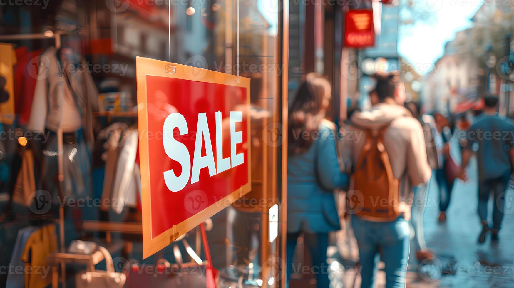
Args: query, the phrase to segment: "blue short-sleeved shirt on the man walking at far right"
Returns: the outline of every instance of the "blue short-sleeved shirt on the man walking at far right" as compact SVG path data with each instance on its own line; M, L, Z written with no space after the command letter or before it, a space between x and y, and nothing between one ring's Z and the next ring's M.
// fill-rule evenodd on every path
M514 146L514 125L510 118L498 114L475 119L467 132L467 148L478 143L479 178L484 181L501 177L512 169L509 150Z

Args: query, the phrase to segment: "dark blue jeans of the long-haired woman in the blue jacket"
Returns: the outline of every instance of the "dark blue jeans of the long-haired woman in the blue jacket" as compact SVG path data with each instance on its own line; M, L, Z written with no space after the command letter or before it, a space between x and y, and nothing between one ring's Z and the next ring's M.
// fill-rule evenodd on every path
M296 244L301 232L287 233L286 242L286 288L289 287L289 279L291 272L293 272L293 257L295 256ZM316 276L316 287L328 288L330 281L328 279L328 264L326 263L326 250L328 248L328 233L304 233L304 243L307 245L312 266L310 271ZM300 263L300 270L295 272L302 273L302 265Z

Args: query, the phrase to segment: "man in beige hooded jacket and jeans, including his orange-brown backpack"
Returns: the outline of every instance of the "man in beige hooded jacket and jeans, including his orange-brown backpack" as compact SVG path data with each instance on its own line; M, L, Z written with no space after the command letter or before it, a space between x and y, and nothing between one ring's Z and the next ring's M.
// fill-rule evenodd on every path
M353 142L353 175L348 211L359 247L361 287L374 286L378 257L385 263L386 287L405 287L410 247L410 187L427 183L423 129L404 106L405 86L398 73L374 76L372 109L356 112L351 122L363 134ZM421 134L420 134L421 133Z

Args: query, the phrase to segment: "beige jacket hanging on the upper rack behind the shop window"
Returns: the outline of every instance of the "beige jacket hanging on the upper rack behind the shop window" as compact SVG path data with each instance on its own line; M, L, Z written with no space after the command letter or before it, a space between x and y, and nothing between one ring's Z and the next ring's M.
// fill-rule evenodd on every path
M84 128L93 142L93 115L98 111L98 90L80 56L48 48L42 55L28 129L43 132L75 132Z

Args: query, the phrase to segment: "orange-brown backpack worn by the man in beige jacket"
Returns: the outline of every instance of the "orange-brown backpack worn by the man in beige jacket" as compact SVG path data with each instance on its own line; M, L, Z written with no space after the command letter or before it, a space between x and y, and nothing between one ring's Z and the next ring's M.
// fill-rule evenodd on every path
M400 215L399 185L394 178L382 137L388 127L366 131L367 137L353 174L350 211L373 222L393 221Z

